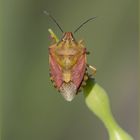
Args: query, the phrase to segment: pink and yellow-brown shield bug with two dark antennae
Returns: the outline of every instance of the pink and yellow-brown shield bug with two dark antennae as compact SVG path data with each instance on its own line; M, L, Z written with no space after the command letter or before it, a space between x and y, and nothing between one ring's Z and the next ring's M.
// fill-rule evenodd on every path
M44 11L59 27L63 36L60 41L51 33L54 43L49 47L50 79L54 86L67 100L71 101L74 96L86 85L89 78L87 68L96 69L87 64L86 55L88 54L83 41L77 41L72 32L63 32L62 28L48 12ZM75 31L76 33L90 18L83 22Z

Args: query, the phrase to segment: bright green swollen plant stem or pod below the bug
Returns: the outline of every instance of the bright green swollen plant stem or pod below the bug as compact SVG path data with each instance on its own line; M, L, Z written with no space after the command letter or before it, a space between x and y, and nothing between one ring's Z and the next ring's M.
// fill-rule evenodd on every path
M109 98L106 91L98 85L94 79L87 81L84 88L85 102L88 108L104 123L107 128L110 140L133 140L114 119Z

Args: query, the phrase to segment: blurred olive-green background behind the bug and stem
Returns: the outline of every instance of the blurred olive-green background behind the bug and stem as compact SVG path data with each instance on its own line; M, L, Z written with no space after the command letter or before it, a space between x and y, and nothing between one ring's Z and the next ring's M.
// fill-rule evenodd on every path
M49 80L48 28L65 31L98 18L75 34L91 52L96 81L110 97L119 124L138 138L138 1L1 0L2 140L108 140L83 94L68 103Z

